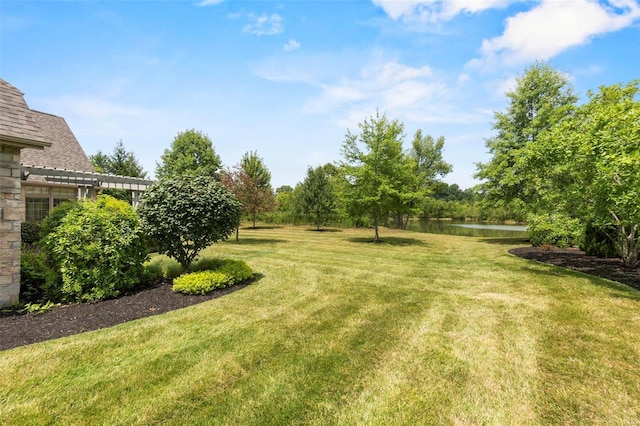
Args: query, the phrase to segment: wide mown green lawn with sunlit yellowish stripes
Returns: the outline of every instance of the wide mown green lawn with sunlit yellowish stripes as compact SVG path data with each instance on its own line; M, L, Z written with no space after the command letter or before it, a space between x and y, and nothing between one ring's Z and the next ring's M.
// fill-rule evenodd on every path
M381 236L243 229L208 253L251 286L1 352L0 423L640 422L640 292L505 240Z

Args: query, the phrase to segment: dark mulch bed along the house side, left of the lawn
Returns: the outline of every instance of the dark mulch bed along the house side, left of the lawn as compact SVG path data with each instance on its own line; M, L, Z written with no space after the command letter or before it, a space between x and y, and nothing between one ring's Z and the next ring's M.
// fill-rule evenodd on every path
M171 290L171 283L162 282L117 299L72 303L54 307L44 313L2 316L0 317L0 351L163 314L216 299L247 285L249 283L236 284L204 296L189 296L174 293Z

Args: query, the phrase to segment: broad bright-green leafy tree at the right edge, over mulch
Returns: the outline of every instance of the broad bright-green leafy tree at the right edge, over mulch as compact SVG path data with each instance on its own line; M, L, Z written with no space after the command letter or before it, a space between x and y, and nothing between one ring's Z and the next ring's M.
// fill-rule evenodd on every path
M538 211L617 229L618 253L640 250L640 80L601 87L575 114L530 144L517 165L539 190Z

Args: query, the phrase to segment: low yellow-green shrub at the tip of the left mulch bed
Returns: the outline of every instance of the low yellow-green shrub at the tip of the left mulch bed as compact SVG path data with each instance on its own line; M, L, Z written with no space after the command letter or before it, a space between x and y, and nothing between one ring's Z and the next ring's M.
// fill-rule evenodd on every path
M173 280L173 291L185 294L207 294L229 287L253 277L253 271L243 261L230 259L201 259L200 267L214 266L213 270L200 270Z

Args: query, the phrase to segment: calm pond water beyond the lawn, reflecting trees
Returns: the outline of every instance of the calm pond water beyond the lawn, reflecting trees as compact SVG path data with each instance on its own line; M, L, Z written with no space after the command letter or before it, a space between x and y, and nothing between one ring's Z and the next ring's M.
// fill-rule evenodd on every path
M526 238L525 225L508 225L450 220L411 220L409 231L430 234L462 235L465 237Z

